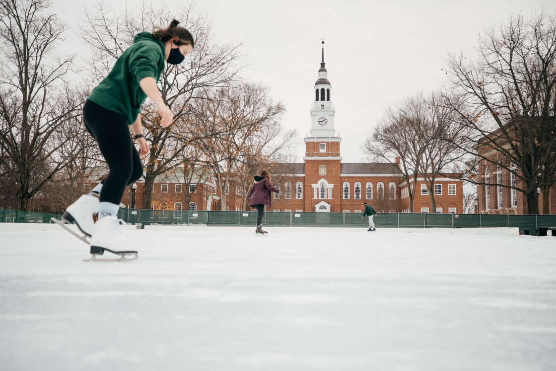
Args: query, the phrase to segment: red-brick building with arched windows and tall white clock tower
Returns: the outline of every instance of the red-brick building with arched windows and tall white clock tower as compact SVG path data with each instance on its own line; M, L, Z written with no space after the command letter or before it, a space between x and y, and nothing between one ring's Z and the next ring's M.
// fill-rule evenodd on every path
M324 43L324 42L323 42ZM405 182L396 163L342 163L341 137L335 135L335 107L332 85L327 79L324 46L313 87L311 135L305 138L304 162L284 164L284 174L274 185L283 195L273 194L272 211L360 212L368 202L380 212L433 212L429 195L415 196L414 210L409 210ZM418 180L420 187L422 179ZM420 188L418 188L420 191ZM436 212L463 212L463 181L440 177L435 184ZM231 199L228 197L231 202ZM237 197L236 197L237 198ZM241 201L239 202L241 205Z

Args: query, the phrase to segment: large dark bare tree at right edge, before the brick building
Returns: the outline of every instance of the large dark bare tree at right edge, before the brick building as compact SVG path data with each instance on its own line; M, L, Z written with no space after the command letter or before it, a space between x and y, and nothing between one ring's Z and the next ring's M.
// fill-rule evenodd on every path
M527 197L529 214L539 213L540 187L548 213L556 182L556 17L547 11L511 16L485 31L476 52L474 60L465 52L446 60L446 107L467 132L459 147L476 156L471 163L514 174L520 182L513 188ZM485 184L481 177L469 180Z

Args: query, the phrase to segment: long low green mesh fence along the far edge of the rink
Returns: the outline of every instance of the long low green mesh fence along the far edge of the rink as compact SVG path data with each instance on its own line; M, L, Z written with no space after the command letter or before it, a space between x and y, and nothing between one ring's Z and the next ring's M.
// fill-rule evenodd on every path
M369 220L360 212L265 212L264 225L366 227ZM0 209L0 223L51 223L61 215L44 212ZM196 211L120 209L118 217L128 224L255 226L257 211ZM376 227L381 228L483 228L518 227L520 233L546 235L556 230L556 215L489 215L489 214L377 214ZM556 233L555 233L556 234Z

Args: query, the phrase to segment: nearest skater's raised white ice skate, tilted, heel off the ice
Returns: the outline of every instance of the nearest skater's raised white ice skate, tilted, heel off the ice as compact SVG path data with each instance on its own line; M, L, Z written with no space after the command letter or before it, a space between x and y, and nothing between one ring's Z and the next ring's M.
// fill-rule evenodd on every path
M93 221L93 214L98 211L98 196L92 195L82 195L73 204L69 205L66 212L62 215L62 220L57 220L52 218L52 221L56 224L61 225L69 233L76 236L78 239L82 240L86 244L89 243L87 237L91 237L93 231L95 231L95 221ZM83 232L83 236L75 233L69 229L64 222L72 223L75 222L77 227Z

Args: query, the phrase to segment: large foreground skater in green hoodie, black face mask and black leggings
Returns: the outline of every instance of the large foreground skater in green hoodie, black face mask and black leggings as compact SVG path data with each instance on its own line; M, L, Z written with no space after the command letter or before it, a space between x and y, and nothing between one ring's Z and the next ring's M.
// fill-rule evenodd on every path
M167 28L138 33L108 76L87 97L83 121L95 138L109 173L88 195L70 205L62 217L76 222L85 234L83 240L91 237L91 253L96 249L102 254L104 249L121 242L117 233L120 201L126 187L143 175L141 157L150 152L141 126L141 106L150 98L160 115L160 126L171 125L173 114L158 92L157 82L165 62L179 65L194 45L191 33L176 19ZM130 126L140 152L133 144ZM96 211L95 224L92 215Z

